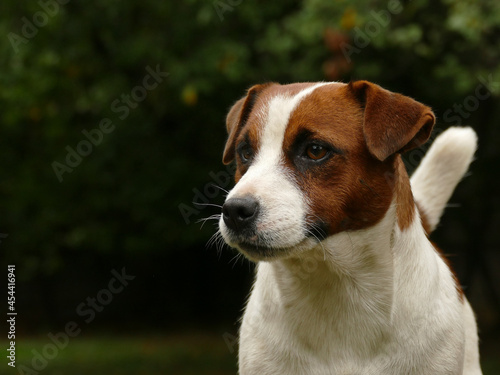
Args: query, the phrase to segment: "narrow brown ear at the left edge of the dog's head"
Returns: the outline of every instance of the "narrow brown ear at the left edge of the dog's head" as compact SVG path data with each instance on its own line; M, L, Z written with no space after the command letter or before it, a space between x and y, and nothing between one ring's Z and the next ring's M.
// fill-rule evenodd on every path
M224 164L229 164L233 161L235 156L236 138L238 138L241 129L247 122L259 93L269 85L271 84L266 83L252 86L248 89L247 95L238 100L229 110L226 117L226 128L229 136L226 142L226 147L224 148L224 154L222 156L222 162Z

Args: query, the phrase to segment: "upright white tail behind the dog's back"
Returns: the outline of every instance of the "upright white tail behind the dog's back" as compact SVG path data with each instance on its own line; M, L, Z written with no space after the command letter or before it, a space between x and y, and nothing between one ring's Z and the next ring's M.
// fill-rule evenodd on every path
M472 128L451 127L436 138L411 177L424 228L438 225L453 190L467 172L477 147Z

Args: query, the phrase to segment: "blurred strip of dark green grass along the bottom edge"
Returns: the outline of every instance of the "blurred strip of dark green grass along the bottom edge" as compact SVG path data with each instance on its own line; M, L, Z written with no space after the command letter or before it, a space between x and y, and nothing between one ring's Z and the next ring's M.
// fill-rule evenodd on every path
M183 334L156 336L76 337L47 365L36 372L21 372L21 365L33 369L33 350L43 353L47 337L18 339L16 365L0 365L0 374L26 375L234 375L236 353L231 353L222 335ZM48 352L49 356L52 352ZM6 360L6 358L4 358ZM484 375L500 374L500 358L485 358ZM36 370L36 369L35 369Z

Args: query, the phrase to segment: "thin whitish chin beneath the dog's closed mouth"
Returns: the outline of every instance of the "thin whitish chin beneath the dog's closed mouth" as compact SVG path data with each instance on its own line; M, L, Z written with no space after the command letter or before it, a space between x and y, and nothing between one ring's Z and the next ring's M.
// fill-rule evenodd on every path
M302 241L291 246L267 246L257 245L251 242L239 242L230 244L230 246L237 249L252 262L271 262L273 260L285 259L297 255L302 251L312 248L314 243L312 243L309 238L304 238Z

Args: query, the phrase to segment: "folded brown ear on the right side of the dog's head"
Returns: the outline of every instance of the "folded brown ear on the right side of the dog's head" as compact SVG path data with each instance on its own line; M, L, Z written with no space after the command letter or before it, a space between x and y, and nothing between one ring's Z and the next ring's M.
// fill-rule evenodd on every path
M364 105L365 141L377 159L383 161L429 139L436 120L429 107L367 81L351 82L349 87Z

